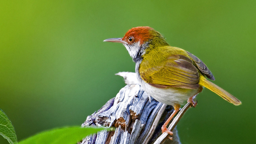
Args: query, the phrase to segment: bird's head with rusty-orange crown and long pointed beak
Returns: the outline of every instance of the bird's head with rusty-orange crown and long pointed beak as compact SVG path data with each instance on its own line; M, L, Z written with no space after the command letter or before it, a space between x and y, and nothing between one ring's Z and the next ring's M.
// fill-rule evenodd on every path
M133 27L123 38L105 39L104 42L123 43L135 62L140 60L147 50L168 45L165 38L151 27Z

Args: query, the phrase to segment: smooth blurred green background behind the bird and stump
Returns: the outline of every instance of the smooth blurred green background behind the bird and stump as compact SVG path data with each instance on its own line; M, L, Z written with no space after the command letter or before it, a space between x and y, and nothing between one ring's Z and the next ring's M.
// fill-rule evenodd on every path
M134 72L127 50L104 39L150 26L203 60L215 83L242 101L204 90L177 128L182 143L255 143L255 0L1 1L0 108L18 140L81 125ZM0 137L0 143L7 143Z

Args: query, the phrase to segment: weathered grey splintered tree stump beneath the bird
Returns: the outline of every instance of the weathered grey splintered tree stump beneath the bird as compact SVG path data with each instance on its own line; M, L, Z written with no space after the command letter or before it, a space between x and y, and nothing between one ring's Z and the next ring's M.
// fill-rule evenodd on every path
M167 134L161 132L161 126L173 112L173 107L148 96L139 86L135 73L119 72L117 75L123 76L127 85L82 124L116 127L116 130L98 132L86 137L80 144L180 143L174 128L179 119L173 123L173 140L167 139ZM162 138L159 139L160 135Z

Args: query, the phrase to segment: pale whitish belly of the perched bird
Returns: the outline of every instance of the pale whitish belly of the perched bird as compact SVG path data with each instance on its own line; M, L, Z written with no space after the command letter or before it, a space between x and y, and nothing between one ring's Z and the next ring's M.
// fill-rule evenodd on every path
M148 95L152 96L158 102L164 103L166 105L173 106L174 104L182 104L184 101L187 101L188 98L198 93L197 89L191 90L172 87L157 88L144 82L142 79L139 79L139 83Z

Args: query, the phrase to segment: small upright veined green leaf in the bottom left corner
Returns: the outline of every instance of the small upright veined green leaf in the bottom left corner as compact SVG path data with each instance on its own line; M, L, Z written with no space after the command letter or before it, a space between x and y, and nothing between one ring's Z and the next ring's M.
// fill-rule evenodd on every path
M8 119L3 110L0 109L0 134L7 139L10 144L17 143L17 137L12 122Z

